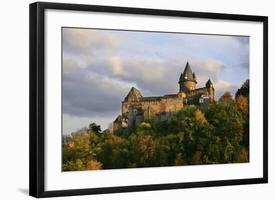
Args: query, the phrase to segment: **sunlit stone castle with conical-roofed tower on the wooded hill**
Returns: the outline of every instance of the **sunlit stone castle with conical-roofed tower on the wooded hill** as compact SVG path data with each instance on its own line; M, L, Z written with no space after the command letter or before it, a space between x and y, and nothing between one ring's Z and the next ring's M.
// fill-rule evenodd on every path
M132 87L121 102L121 115L113 121L113 131L135 127L145 119L163 121L176 114L184 105L195 105L203 110L214 101L214 88L210 79L205 87L196 89L196 76L187 61L179 77L179 92L158 97L143 97Z

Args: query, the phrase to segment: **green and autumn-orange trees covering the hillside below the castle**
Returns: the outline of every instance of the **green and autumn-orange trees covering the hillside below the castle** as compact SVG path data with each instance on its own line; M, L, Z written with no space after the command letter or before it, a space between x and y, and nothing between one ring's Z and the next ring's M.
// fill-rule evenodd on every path
M249 162L249 80L204 112L184 106L167 121L112 134L92 123L63 136L63 171Z

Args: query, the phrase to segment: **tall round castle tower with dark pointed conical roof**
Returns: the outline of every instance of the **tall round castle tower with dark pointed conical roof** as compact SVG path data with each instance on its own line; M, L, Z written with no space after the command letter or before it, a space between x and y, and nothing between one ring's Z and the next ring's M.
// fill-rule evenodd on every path
M183 73L179 77L179 92L187 93L190 90L194 90L196 86L196 77L195 73L192 73L190 65L187 61Z

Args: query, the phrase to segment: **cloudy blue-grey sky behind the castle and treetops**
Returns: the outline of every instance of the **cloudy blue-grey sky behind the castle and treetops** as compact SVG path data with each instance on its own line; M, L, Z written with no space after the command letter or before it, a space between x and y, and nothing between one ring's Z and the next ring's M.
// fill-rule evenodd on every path
M62 28L62 134L121 114L131 87L142 96L179 91L186 62L196 87L210 79L215 100L249 78L249 37Z

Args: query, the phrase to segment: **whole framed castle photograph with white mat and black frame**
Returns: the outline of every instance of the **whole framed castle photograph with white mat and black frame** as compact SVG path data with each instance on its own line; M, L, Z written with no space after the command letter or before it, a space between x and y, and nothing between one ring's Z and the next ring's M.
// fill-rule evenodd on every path
M267 183L267 16L29 5L29 195Z

